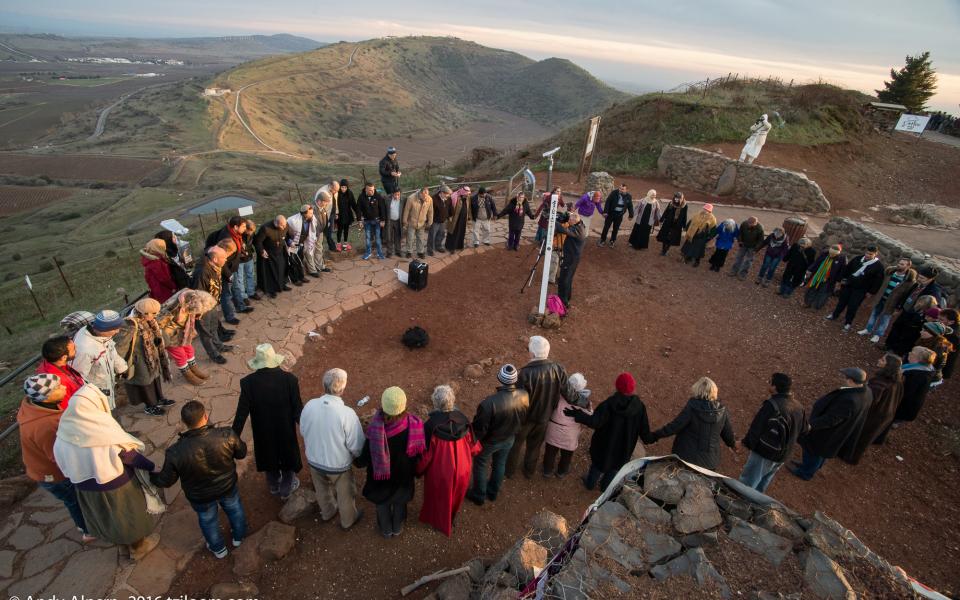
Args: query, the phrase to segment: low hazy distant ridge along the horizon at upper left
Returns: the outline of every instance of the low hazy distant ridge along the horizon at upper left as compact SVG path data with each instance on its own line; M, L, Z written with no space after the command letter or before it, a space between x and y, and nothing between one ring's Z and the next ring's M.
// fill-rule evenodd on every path
M64 37L0 33L0 60L60 62L84 58L131 61L181 60L237 64L277 54L306 52L326 44L288 34L196 38Z

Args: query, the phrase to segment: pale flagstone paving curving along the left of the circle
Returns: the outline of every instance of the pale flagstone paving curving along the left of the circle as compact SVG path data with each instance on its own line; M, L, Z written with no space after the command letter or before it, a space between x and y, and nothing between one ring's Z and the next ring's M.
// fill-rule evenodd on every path
M527 220L524 237L530 238L535 224ZM468 246L471 243L467 232ZM458 254L437 254L427 257L430 272L437 273L462 256L498 249L506 242L506 219L493 223L492 246L468 247ZM182 431L178 406L188 400L199 400L218 426L233 422L240 379L250 373L247 359L257 344L268 341L293 366L303 354L303 345L311 331L320 332L347 311L359 308L393 294L403 286L395 268L406 271L409 259L360 259L360 253L335 256L328 265L332 271L320 279L312 279L302 287L283 293L275 299L264 297L256 310L243 315L232 343L237 349L225 354L226 364L215 365L198 352L210 379L200 387L187 385L178 373L165 384L167 397L176 400L165 417L148 417L135 407L120 409L120 423L146 444L144 454L155 463L163 463L164 450L176 441ZM244 439L252 444L250 427ZM250 457L239 461L243 474L253 466ZM87 597L126 598L166 593L177 574L193 555L204 547L196 513L180 493L179 483L164 490L167 511L158 521L160 544L140 562L121 556L117 546L105 542L82 545L80 532L63 505L44 490L36 489L27 496L6 522L0 523L0 590L2 596L70 598L83 593Z

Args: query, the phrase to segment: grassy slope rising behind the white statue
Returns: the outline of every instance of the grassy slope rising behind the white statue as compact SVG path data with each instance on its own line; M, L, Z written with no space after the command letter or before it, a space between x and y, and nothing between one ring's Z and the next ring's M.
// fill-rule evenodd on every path
M676 94L645 94L603 113L594 170L650 173L664 144L741 142L750 125L766 112L774 124L769 141L803 145L843 142L867 127L859 92L825 84L788 87L777 82L735 81ZM778 112L783 122L774 115ZM561 146L556 168L576 170L583 153L586 125L578 124L518 154L479 165L478 174L501 172L507 165Z

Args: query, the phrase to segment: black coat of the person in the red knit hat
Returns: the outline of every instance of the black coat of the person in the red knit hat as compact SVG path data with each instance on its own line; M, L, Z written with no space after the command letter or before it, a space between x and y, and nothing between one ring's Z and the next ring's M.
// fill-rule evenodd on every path
M645 444L655 439L650 435L647 407L635 395L616 392L601 402L593 414L575 408L566 412L577 423L594 430L590 439L590 462L603 473L616 471L627 464L638 439Z

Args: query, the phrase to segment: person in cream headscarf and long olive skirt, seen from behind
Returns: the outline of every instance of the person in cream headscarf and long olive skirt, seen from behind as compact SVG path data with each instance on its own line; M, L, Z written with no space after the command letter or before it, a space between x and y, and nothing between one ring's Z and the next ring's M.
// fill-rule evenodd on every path
M159 534L151 533L155 523L150 515L164 510L149 485L155 465L144 450L143 442L110 416L108 398L89 384L73 395L53 443L57 466L77 490L87 532L128 546L134 560L145 558L160 542Z

